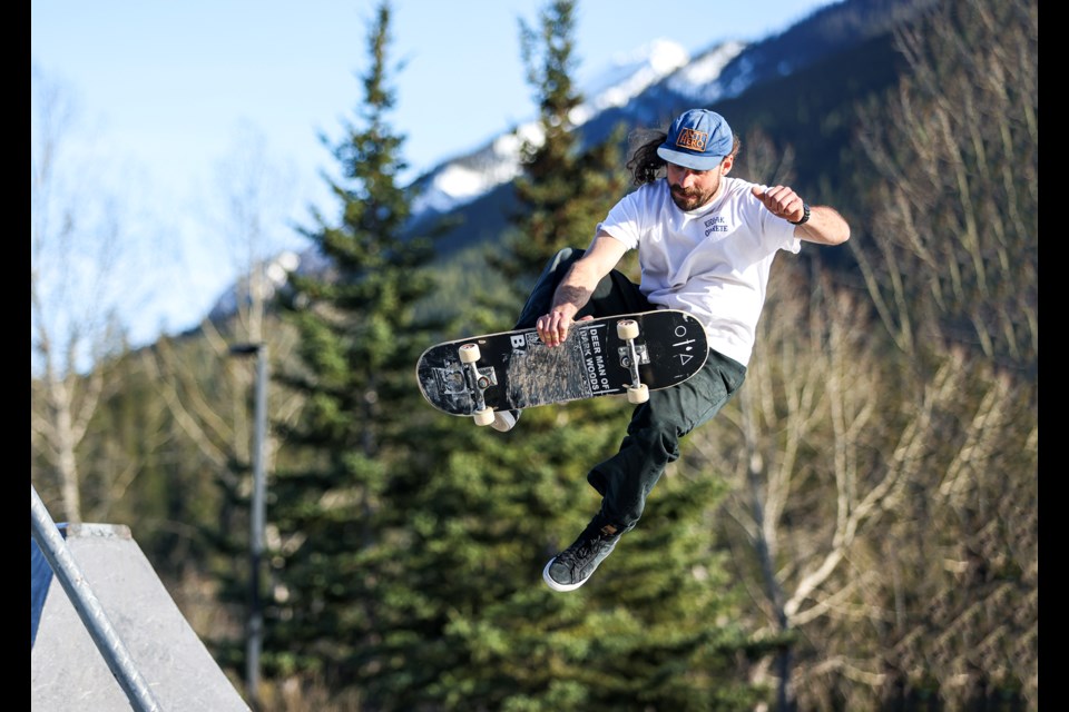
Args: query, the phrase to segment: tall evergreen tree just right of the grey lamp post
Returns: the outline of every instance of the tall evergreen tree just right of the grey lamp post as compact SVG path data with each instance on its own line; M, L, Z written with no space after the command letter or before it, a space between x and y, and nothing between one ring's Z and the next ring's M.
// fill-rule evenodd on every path
M390 625L377 610L384 574L374 564L392 545L392 468L421 447L418 416L426 411L412 374L433 327L415 315L433 288L423 269L432 250L428 240L402 239L410 204L396 182L403 138L386 119L390 17L382 2L369 34L362 121L346 126L334 148L340 222L316 212L317 226L302 230L327 268L291 274L279 299L300 334L300 358L276 380L304 405L295 423L275 424L287 462L301 465L279 466L272 484L279 538L264 662L268 674L315 676L332 690L360 680L361 661Z

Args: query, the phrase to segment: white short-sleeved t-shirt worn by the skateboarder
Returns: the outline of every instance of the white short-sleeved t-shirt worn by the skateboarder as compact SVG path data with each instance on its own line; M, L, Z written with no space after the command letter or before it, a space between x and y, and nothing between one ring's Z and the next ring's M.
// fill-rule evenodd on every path
M644 185L617 202L598 230L638 249L639 289L651 304L693 314L709 347L745 366L772 260L781 249L797 254L802 240L751 194L755 184L722 180L716 200L688 212L673 202L664 178Z

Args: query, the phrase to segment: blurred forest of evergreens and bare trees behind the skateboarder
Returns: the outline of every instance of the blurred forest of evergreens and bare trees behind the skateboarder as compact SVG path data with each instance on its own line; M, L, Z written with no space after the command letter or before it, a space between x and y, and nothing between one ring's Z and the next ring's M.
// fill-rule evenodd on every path
M1038 3L943 0L896 28L905 69L853 107L835 182L796 184L791 146L735 127L733 175L834 205L851 240L776 261L738 396L684 442L626 554L562 595L541 567L596 506L585 475L627 404L531 409L501 434L428 407L413 368L428 345L510 328L545 260L630 189L627 127L581 146L568 119L579 6L520 23L545 141L524 146L499 241L443 263L433 231L404 234L382 0L352 120L324 139L339 204L300 228L330 268L272 296L251 172L228 225L248 298L137 350L104 298L49 318L65 265L48 258L88 219L55 204L52 97L31 481L53 518L129 525L263 712L1038 709ZM101 255L125 227L109 215ZM498 278L470 291L472 261ZM255 359L235 344L271 373L255 692Z

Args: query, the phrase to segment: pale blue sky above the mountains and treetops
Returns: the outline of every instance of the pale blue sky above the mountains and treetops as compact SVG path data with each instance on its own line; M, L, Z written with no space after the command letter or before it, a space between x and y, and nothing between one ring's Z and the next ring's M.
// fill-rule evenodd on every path
M355 117L375 4L32 0L31 61L75 98L101 155L121 166L111 189L141 218L166 226L157 236L169 244L156 266L164 270L156 279L161 286L130 316L135 340L195 325L233 280L236 266L219 259L205 236L219 162L243 136L258 136L286 176L294 217L301 220L310 204L328 207L318 171L332 170L333 158L318 135L333 142L343 121ZM581 86L655 39L693 55L720 40L762 39L826 4L579 0L577 79ZM536 0L392 3L389 53L404 62L391 78L392 125L406 136L412 176L534 116L519 20L537 27L545 7ZM292 231L277 239L303 246ZM171 258L188 273L180 289L163 286L175 284L165 274Z

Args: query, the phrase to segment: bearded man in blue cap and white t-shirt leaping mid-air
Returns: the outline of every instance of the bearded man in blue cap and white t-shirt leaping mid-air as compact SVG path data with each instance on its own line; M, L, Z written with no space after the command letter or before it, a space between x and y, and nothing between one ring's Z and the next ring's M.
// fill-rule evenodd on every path
M550 259L516 328L534 327L556 347L577 320L680 309L704 325L709 356L694 377L651 392L635 408L619 452L587 474L601 507L546 564L542 578L555 591L588 581L638 523L649 491L679 457L679 439L742 385L776 254L797 254L803 240L840 245L850 237L837 211L805 204L787 186L728 178L739 141L720 115L692 109L667 134L649 136L627 164L638 188L609 210L586 250ZM638 250L639 285L615 269L629 249ZM492 426L509 431L519 416L499 412Z

